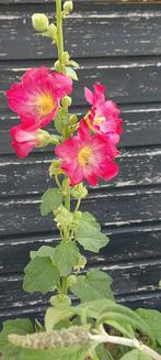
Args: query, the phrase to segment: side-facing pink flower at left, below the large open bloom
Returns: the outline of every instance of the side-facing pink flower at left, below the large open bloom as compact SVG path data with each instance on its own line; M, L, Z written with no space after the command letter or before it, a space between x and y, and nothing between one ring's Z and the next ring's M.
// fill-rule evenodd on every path
M12 127L10 130L12 146L20 159L24 159L34 149L47 144L49 134L41 129L25 128L23 124Z

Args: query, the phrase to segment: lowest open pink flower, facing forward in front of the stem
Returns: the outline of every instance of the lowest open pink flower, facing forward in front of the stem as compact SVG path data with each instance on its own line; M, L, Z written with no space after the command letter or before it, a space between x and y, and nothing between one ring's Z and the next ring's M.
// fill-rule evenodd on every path
M81 120L78 135L56 146L56 155L62 160L61 168L70 177L71 186L87 179L95 186L99 177L110 181L118 173L112 161L111 144L100 135L91 135L88 124Z

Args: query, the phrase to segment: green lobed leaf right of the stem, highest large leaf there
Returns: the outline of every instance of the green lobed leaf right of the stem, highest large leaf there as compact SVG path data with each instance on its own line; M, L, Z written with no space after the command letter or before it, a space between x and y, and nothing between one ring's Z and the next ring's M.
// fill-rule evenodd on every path
M76 231L76 240L84 248L93 252L99 252L101 248L108 243L108 238L100 231L100 225L89 212L83 212L79 227Z

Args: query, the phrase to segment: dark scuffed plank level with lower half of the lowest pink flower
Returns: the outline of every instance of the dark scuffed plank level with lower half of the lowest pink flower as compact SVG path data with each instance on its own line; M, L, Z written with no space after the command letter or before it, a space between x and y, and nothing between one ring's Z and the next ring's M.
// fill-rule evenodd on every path
M53 152L32 154L26 160L0 157L0 196L39 195L47 186L54 186L48 167ZM136 187L139 185L161 184L161 149L129 149L120 151L117 159L119 174L110 183L102 182L101 187ZM10 174L12 173L12 176Z

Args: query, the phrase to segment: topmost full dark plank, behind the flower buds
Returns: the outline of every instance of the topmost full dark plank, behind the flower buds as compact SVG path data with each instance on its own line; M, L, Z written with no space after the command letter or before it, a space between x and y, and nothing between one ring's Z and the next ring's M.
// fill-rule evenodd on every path
M1 59L53 58L56 51L49 41L33 35L31 15L37 6L10 9L1 6ZM82 12L81 12L82 11ZM38 12L53 15L53 4L38 6ZM159 55L161 54L161 9L100 7L100 3L76 12L65 22L66 47L74 57Z

